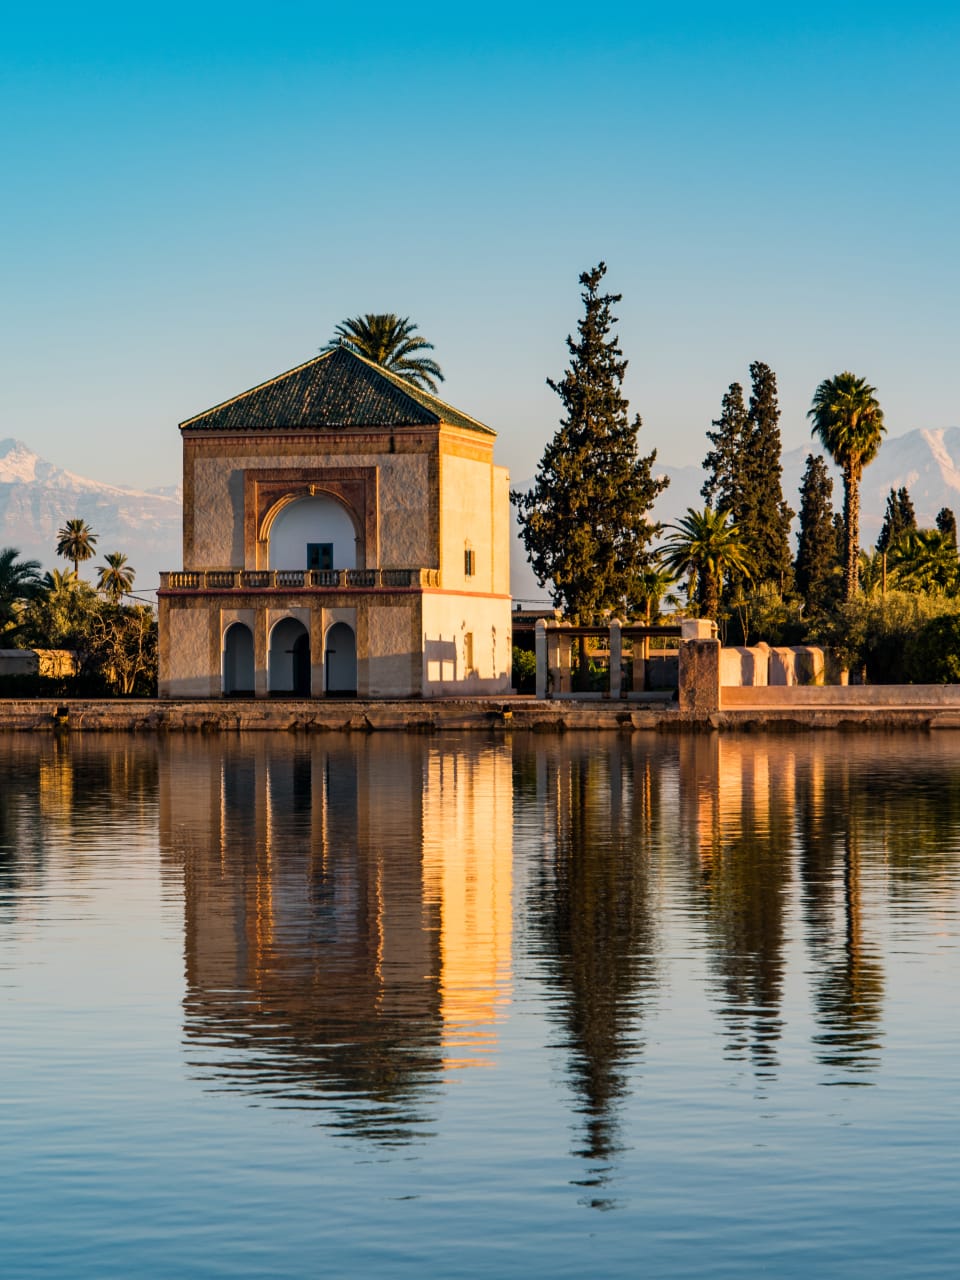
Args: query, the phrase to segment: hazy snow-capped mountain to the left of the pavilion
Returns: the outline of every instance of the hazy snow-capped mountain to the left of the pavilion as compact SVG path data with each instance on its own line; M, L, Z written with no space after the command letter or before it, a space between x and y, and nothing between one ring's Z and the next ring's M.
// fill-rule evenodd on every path
M96 581L93 566L123 552L137 571L134 591L148 591L159 585L160 570L180 564L179 489L101 484L46 462L22 440L0 440L0 547L18 548L45 570L68 568L56 557L56 532L74 517L97 535L82 577Z

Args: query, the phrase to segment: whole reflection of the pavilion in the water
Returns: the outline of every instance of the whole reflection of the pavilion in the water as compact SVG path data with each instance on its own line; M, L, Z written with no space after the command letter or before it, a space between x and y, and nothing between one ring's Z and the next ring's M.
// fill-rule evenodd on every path
M509 787L503 748L168 749L161 847L184 877L204 1074L403 1137L461 1042L489 1048L508 995Z

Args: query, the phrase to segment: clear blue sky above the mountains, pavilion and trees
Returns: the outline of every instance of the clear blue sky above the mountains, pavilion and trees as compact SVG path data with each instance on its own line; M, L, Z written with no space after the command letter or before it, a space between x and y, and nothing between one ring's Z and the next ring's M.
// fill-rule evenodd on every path
M178 421L396 311L526 479L600 259L664 462L758 358L786 447L842 369L960 424L955 6L5 8L0 436L61 466L174 483Z

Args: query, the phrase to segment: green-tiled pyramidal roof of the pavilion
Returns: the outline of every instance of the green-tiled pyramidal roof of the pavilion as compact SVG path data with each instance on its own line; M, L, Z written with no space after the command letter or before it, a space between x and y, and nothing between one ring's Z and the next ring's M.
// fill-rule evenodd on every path
M337 347L187 419L180 426L201 431L283 431L440 422L484 435L497 434L348 347Z

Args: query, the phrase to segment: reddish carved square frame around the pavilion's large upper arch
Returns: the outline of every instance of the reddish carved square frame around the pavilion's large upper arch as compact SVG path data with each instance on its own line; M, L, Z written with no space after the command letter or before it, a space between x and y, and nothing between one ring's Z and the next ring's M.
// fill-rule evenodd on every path
M376 467L278 467L243 475L243 559L266 568L270 529L292 502L320 494L334 498L353 521L357 567L378 568L380 538Z

